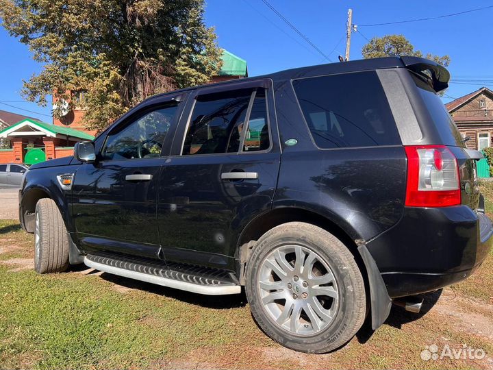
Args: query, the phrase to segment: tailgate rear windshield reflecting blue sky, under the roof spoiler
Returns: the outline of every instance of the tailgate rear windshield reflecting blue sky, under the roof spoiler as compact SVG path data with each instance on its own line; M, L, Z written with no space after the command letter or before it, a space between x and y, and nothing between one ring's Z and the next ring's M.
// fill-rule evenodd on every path
M429 86L423 77L416 75L416 73L410 72L421 98L425 102L425 106L433 123L437 127L438 134L440 134L440 142L444 145L451 145L454 147L466 147L462 136L457 129L457 125L453 121L450 114L446 110L442 99L435 93L435 90Z

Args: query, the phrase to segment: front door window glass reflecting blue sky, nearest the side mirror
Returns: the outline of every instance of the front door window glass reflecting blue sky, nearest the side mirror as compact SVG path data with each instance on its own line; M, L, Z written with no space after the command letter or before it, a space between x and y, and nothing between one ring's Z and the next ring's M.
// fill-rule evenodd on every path
M177 104L147 112L120 130L111 132L103 159L121 160L160 156L164 139L177 112Z

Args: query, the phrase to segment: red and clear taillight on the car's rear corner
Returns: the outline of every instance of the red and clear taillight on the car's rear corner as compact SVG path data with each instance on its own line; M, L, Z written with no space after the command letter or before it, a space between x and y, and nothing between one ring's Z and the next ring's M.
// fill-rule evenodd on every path
M459 167L443 145L405 147L407 187L405 205L446 207L461 204Z

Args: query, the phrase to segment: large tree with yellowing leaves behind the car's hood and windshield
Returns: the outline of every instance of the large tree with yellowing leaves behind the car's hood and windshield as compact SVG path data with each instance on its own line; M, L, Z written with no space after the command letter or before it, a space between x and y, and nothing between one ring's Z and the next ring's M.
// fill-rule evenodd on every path
M33 51L42 71L24 82L29 101L55 93L102 130L143 99L210 81L220 69L204 0L0 0L2 25ZM61 107L54 110L60 116Z

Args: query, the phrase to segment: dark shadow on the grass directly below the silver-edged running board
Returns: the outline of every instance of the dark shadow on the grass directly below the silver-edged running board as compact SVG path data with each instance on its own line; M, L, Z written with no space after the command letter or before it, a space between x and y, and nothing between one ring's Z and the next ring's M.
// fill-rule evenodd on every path
M164 297L170 297L179 301L184 301L188 304L197 304L205 308L240 308L244 307L247 304L247 297L244 294L243 290L241 294L202 295L186 291L179 291L178 289L167 288L166 286L150 284L147 282L140 282L139 280L129 279L127 277L121 277L118 275L112 275L110 273L101 274L101 278L108 282L112 282L113 284L125 286L125 288L147 291L152 294L162 295Z

